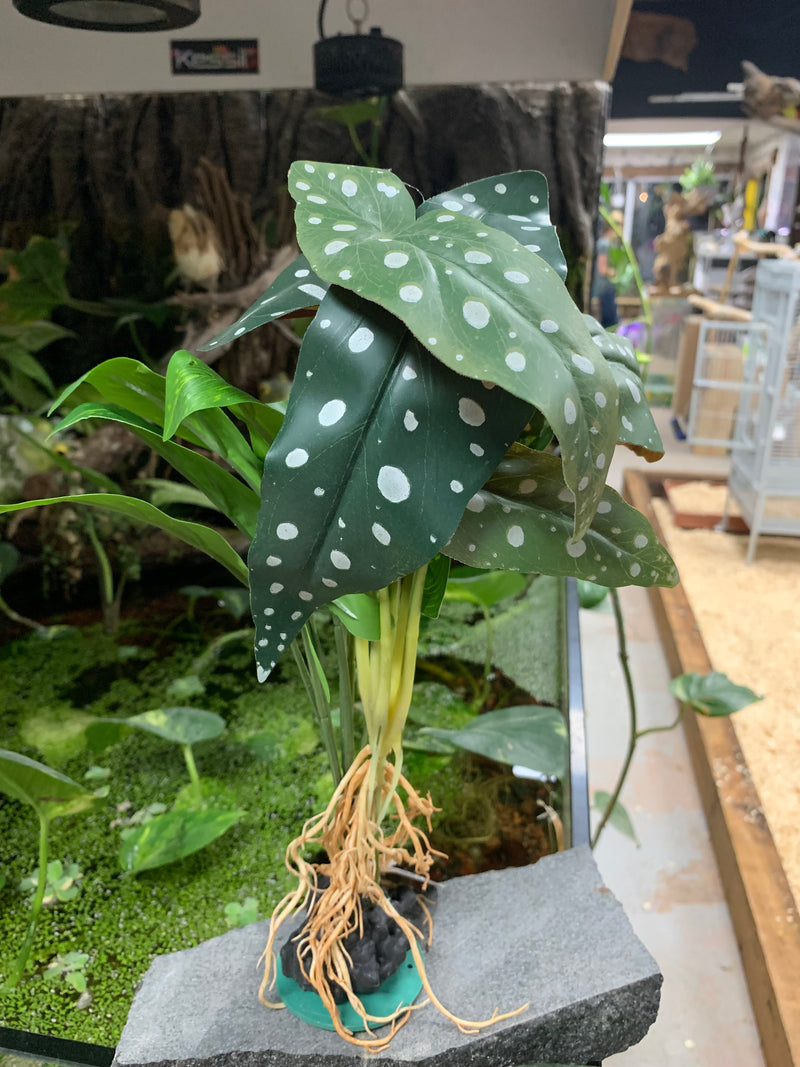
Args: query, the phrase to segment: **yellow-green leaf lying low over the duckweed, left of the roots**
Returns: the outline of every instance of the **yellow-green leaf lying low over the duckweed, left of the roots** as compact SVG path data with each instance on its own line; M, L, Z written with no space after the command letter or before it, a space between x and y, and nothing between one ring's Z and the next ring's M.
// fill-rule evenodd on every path
M190 856L246 814L243 811L171 811L132 828L119 848L119 865L129 874L151 871Z

